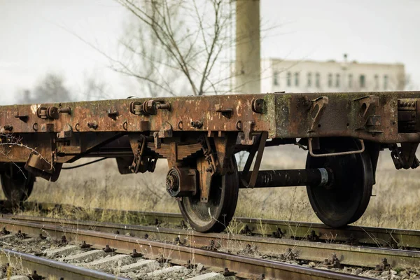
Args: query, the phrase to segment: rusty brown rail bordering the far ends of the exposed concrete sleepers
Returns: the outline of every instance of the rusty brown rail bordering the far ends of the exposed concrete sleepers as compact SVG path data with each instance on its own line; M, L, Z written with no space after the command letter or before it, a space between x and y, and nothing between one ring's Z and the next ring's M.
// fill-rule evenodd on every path
M165 258L165 260L170 260L170 262L179 265L185 265L188 262L200 262L207 267L216 267L218 269L228 267L230 271L237 272L237 276L242 277L255 278L264 274L265 277L271 279L365 279L351 274L290 265L274 260L248 258L106 232L63 229L56 225L41 225L39 223L13 221L3 218L0 219L0 224L9 231L17 232L21 230L27 235L39 235L41 232L47 232L54 239L61 238L64 235L66 240L70 242L86 241L87 244L93 244L94 246L92 247L94 248L102 248L109 245L111 248L116 248L120 253L127 253L136 249L138 252L143 253L146 258Z

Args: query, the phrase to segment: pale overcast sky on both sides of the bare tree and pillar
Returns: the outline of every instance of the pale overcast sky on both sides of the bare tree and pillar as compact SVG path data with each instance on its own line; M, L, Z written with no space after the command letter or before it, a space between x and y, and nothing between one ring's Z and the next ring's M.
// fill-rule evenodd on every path
M420 85L420 1L261 0L262 57L402 62ZM116 53L127 14L113 0L0 0L0 103L58 72L80 91L92 74L108 81L116 97L125 83L108 61L73 34ZM417 87L418 89L418 87Z

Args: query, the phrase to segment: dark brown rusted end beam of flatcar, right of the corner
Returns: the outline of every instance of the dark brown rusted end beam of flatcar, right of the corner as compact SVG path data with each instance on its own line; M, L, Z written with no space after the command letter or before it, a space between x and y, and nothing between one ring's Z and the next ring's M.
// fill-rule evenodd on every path
M311 104L321 97L328 101L315 120ZM419 97L420 92L277 95L276 137L354 137L381 143L416 142L418 134L398 133L398 99L408 98L414 102Z

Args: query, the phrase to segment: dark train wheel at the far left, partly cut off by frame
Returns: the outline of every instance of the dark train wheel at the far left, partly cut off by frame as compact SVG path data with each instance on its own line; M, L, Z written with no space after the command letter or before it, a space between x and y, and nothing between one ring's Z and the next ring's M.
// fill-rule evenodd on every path
M24 164L7 163L0 179L3 193L13 205L27 200L34 188L35 176L27 172Z

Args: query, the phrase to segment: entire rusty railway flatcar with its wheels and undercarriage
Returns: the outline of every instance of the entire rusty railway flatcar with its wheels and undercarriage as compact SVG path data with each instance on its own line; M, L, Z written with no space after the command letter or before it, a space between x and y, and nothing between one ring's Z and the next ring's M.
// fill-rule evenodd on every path
M306 186L318 218L336 228L357 221L367 208L380 151L390 151L396 169L419 166L418 118L420 92L0 106L1 185L18 204L36 177L56 181L63 164L80 158L116 158L121 174L153 172L163 158L167 192L197 231L224 230L239 189L281 186ZM265 147L283 144L308 150L306 169L260 170ZM240 151L249 152L241 172L235 161Z

